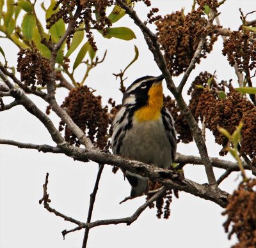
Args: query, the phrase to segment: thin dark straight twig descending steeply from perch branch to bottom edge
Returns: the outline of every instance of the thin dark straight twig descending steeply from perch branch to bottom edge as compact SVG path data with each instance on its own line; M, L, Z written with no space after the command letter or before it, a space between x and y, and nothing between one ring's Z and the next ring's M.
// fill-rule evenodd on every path
M90 194L90 206L89 206L87 221L86 221L87 224L90 223L91 219L92 219L93 205L95 203L95 198L96 198L96 194L97 194L97 191L98 191L100 177L101 177L103 168L104 168L104 164L99 164L99 171L97 173L97 178L95 180L95 185L94 185L92 194ZM86 227L85 231L84 231L84 238L83 238L82 248L86 248L89 231L90 231L90 228Z

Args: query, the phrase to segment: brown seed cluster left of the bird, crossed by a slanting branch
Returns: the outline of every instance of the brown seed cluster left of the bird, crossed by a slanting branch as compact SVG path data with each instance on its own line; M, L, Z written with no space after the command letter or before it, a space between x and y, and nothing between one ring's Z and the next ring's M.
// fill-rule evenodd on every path
M88 137L94 145L104 149L108 142L108 106L102 107L101 96L94 96L87 86L72 89L61 105L74 122L88 133ZM61 120L60 131L65 129L65 140L70 145L79 146L81 143L76 135Z

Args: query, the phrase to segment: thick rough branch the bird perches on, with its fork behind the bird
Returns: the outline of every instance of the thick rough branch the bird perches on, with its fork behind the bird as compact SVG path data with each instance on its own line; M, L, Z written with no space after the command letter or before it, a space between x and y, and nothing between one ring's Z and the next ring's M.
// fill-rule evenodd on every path
M24 144L20 142L14 142L12 140L1 139L0 143L15 145L21 148L30 148L39 151L42 150L42 152L63 153L68 157L72 157L73 159L83 162L92 160L100 164L115 165L118 168L129 170L132 173L136 173L143 177L148 177L151 180L157 180L161 182L164 186L166 186L167 189L179 189L180 191L193 194L205 200L210 200L220 205L221 207L225 207L227 205L228 193L226 193L225 191L221 191L220 189L215 189L205 185L200 185L188 179L183 180L180 178L180 174L176 171L164 170L162 168L158 168L150 164L144 164L139 161L126 159L125 157L105 153L99 149L83 149L79 147L72 147L71 145L51 147L48 145ZM178 161L181 161L181 157L183 157L184 163L189 163L189 161L191 161L191 163L195 162L197 164L203 163L200 157L193 156L180 156L180 158L178 156ZM216 164L218 162L218 159L214 158L212 159L212 161L214 161L213 164ZM225 165L225 161L221 161L220 164L218 165L218 168L228 168L228 166L232 166L232 170L239 171L239 168L236 163L231 163L230 161L226 162L227 164ZM245 169L248 170L250 168L247 165Z

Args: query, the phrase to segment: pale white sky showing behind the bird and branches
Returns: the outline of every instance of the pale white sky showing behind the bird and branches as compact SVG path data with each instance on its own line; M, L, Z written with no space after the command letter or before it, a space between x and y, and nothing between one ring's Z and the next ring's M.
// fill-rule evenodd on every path
M47 1L45 1L47 2ZM152 0L152 5L159 8L161 15L180 10L185 7L187 13L191 9L192 0ZM221 6L220 22L224 27L237 29L239 19L239 7L244 13L256 10L255 0L227 0ZM136 11L142 18L146 18L147 9L143 4L137 4ZM255 19L256 15L250 15ZM132 41L106 40L95 32L95 40L99 47L98 55L101 57L107 49L108 54L104 63L97 66L90 73L87 85L97 89L95 94L103 96L103 103L113 98L119 103L122 95L118 91L118 82L112 73L118 73L124 69L134 57L134 45L139 48L140 57L134 65L127 70L126 86L133 80L144 75L159 75L152 54L148 52L140 30L134 26L128 17L116 22L117 26L130 27L136 33L137 39ZM85 41L84 41L85 42ZM188 84L200 71L215 70L218 80L234 79L234 69L230 68L225 57L221 55L221 39L214 45L214 52L202 60L196 70L191 73ZM0 40L9 65L15 65L17 48ZM74 58L74 56L73 56ZM0 57L3 62L3 57ZM84 73L83 65L76 71L77 81ZM174 78L179 84L180 78ZM187 85L187 88L188 89ZM185 89L185 92L186 92ZM168 91L166 91L168 92ZM65 89L58 90L57 99L61 103L68 92ZM35 103L45 110L45 103L36 98ZM56 115L51 118L58 127L60 121ZM31 116L22 106L12 110L1 112L0 137L27 143L47 143L54 145L51 136L44 126ZM210 156L218 156L218 147L207 133L207 147ZM178 152L183 154L198 155L194 144L178 146ZM229 157L226 157L229 159ZM145 201L143 197L133 201L127 201L122 205L118 203L129 195L130 186L123 179L122 173L111 173L111 166L106 165L100 180L99 191L95 202L92 221L98 219L110 219L127 217ZM49 172L49 198L51 207L63 214L74 217L79 221L86 221L90 193L92 192L97 164L80 163L69 157L59 154L43 154L36 150L24 150L10 146L0 146L0 247L81 247L84 231L70 233L63 240L61 231L72 229L74 224L63 221L60 217L47 212L38 200L42 198L42 184L45 174ZM216 177L223 171L216 170ZM199 183L207 182L202 166L186 166L185 176ZM221 189L231 193L237 186L235 181L237 174L228 177L227 182L221 184ZM180 198L173 199L172 213L168 220L157 219L156 209L145 210L139 219L131 226L119 224L118 226L102 226L90 231L88 247L230 247L222 224L225 217L221 216L218 205L196 198L193 195L180 193Z

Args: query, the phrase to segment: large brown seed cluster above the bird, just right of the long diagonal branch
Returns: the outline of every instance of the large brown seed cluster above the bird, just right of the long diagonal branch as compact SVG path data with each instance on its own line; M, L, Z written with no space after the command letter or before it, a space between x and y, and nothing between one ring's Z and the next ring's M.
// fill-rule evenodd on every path
M203 9L200 5L200 8L188 15L184 15L183 10L176 11L155 22L157 37L164 50L164 59L172 75L178 76L186 71L202 36L207 34L202 53L196 61L198 63L211 52L212 45L217 40L216 34L206 29L207 20L204 18Z

